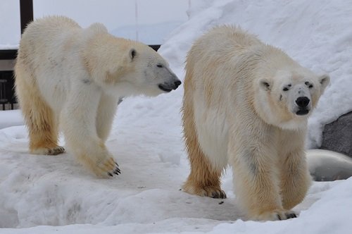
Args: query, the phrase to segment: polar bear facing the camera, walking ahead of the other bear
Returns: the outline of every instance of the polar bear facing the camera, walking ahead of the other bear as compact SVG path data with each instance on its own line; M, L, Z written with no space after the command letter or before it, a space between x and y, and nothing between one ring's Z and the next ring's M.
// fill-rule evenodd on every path
M182 122L190 194L225 198L227 164L248 218L294 218L310 175L307 118L329 83L238 27L218 26L187 55Z

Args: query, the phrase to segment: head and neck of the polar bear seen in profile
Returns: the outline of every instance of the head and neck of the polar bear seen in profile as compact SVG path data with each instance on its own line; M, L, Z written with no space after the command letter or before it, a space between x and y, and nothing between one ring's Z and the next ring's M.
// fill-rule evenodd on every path
M181 85L168 62L151 47L96 27L90 30L94 33L83 52L84 64L92 80L109 94L156 96Z

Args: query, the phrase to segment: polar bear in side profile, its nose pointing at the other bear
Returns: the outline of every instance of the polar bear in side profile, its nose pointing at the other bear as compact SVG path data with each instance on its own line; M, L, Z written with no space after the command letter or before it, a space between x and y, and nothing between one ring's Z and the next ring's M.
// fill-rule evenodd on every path
M78 161L97 176L120 173L106 149L118 99L175 90L181 81L145 44L83 29L63 16L35 20L20 40L15 93L32 154L61 154L59 126Z

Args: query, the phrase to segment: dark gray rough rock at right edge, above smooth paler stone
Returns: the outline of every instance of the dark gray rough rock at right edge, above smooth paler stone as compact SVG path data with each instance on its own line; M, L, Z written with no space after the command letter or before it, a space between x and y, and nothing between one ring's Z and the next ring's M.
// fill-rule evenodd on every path
M352 111L325 125L320 149L328 149L352 157Z

